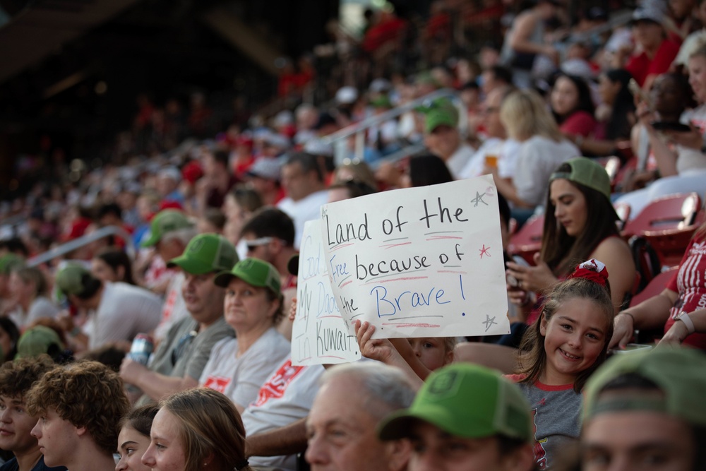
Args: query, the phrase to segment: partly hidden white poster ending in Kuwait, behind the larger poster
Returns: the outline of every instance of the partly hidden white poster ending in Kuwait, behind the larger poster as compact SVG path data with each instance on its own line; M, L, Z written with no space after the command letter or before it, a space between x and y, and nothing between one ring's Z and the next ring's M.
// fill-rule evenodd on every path
M323 251L321 220L304 225L297 276L297 316L292 326L292 364L335 364L360 359L353 328L336 303Z

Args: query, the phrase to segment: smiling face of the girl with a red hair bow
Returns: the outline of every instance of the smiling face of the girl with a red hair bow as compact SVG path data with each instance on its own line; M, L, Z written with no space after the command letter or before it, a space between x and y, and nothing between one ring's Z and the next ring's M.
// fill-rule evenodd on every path
M539 381L549 385L573 383L603 351L608 329L606 315L591 299L566 299L551 316L542 316L546 366Z

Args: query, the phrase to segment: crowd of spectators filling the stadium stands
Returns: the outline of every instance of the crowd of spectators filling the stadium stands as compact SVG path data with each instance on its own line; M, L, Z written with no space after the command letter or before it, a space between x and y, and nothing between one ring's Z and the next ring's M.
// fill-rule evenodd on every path
M304 64L284 109L225 129L205 97L188 115L141 97L114 162L59 158L3 203L0 471L704 469L703 211L641 302L655 273L621 229L706 194L706 1L574 22L563 0L504 6L503 37L463 57L457 2L434 5L428 69L388 73L411 26L370 11L366 87L315 106ZM510 334L373 339L357 321L366 359L292 364L294 257L321 205L484 174ZM514 252L537 220L536 253Z

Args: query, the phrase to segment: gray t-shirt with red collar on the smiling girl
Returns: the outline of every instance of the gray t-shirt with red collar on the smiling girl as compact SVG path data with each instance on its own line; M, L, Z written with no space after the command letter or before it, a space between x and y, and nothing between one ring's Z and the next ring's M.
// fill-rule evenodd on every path
M510 379L518 381L517 375ZM534 424L534 460L540 469L554 465L561 448L577 440L581 430L581 395L573 384L549 386L537 383L519 383L530 402Z

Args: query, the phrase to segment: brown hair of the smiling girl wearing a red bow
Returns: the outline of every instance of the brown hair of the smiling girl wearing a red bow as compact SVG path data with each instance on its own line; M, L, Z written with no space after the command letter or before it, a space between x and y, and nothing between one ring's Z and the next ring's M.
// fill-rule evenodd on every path
M604 332L604 344L598 358L588 369L581 371L574 381L574 390L580 393L587 379L605 361L608 354L608 344L613 337L614 306L611 299L611 287L608 280L603 287L597 282L586 280L585 278L570 278L563 280L550 290L544 293L545 301L542 305L542 314L537 317L532 326L525 331L520 344L518 355L517 374L522 374L525 378L522 383L534 384L542 376L546 368L546 351L544 350L544 335L541 333L542 320L546 323L551 321L557 309L569 299L580 298L590 299L596 304L598 309L603 311L606 317L606 330Z

